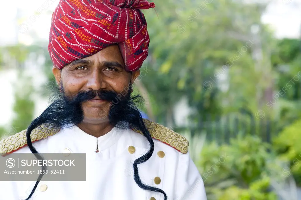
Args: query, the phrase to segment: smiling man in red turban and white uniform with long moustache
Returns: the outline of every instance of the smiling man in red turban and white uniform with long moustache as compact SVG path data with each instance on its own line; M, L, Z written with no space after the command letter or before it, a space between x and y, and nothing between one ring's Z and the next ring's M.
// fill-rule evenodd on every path
M206 200L188 141L143 119L141 97L131 95L148 53L140 11L148 8L146 0L59 2L48 46L57 91L0 153L85 153L86 181L1 182L0 200Z

